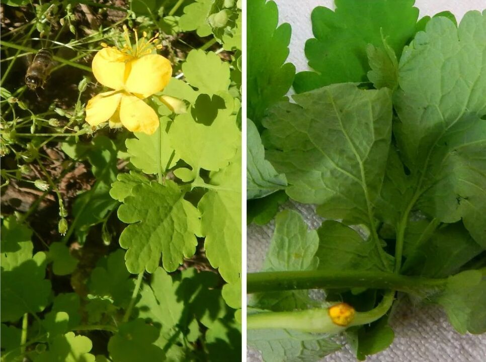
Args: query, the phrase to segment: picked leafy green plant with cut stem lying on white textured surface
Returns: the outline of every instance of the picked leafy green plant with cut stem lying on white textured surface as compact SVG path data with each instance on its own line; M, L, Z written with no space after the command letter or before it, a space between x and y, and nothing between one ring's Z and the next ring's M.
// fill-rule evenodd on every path
M326 218L308 230L280 212L248 275L248 344L266 361L318 360L340 334L365 359L392 343L403 294L486 332L486 13L417 21L413 4L314 9L315 71L294 78L289 25L249 2L248 219L268 222L287 197Z

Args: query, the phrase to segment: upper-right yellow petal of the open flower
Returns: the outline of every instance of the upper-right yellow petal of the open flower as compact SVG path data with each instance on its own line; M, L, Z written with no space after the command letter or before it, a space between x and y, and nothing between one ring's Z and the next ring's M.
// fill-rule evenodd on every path
M158 54L149 54L127 63L128 78L125 82L127 92L147 98L160 92L169 83L172 65L169 59Z

